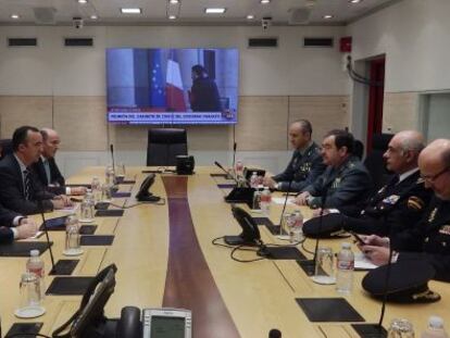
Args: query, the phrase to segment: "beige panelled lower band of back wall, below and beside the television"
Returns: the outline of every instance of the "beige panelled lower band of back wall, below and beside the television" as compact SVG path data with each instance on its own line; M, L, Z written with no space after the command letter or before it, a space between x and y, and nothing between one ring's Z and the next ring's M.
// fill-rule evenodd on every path
M314 139L332 128L349 125L347 96L247 96L240 97L238 124L233 126L188 126L190 150L230 150L233 135L240 151L289 149L290 122L308 118ZM1 138L11 138L24 124L54 127L63 151L105 151L113 142L117 150L143 150L147 126L109 125L104 97L0 97Z

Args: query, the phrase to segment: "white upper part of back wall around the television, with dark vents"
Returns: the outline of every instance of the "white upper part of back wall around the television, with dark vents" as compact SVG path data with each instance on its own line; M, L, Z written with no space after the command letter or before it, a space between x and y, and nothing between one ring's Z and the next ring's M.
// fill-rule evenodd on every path
M338 39L343 27L108 26L0 27L0 95L104 96L109 47L238 47L240 96L346 95ZM64 48L64 37L93 37L95 48ZM276 49L248 49L249 37L278 37ZM302 48L303 37L336 47ZM38 48L8 48L7 37L37 37Z

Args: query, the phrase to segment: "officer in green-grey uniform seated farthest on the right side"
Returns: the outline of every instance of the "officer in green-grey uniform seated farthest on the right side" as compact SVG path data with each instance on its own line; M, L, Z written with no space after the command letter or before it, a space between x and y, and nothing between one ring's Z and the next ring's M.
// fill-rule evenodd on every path
M321 151L311 139L312 126L308 120L299 120L289 126L289 141L295 151L286 170L273 177L264 177L264 185L280 191L301 191L324 171Z

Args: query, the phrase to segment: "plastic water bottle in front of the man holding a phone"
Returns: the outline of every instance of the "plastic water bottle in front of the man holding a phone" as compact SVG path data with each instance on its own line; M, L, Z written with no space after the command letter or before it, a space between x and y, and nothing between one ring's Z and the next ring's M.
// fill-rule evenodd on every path
M354 254L351 245L343 242L337 256L336 290L350 293L353 287Z

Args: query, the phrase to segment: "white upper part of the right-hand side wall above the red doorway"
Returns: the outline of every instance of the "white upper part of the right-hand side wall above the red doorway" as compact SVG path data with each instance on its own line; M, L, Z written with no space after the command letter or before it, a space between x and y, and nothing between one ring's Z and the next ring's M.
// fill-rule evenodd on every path
M348 26L353 60L386 53L386 92L450 88L450 1L403 0Z

